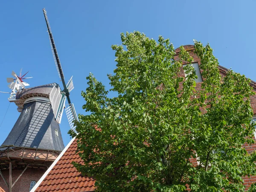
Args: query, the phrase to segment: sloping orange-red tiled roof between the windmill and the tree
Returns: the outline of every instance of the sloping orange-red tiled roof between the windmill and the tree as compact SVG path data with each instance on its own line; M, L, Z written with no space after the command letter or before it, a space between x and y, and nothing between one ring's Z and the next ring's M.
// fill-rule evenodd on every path
M82 163L76 149L77 143L74 140L35 192L93 192L96 189L95 179L82 176L71 164L73 161Z

